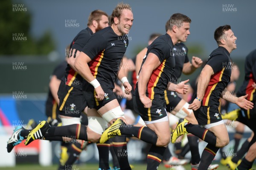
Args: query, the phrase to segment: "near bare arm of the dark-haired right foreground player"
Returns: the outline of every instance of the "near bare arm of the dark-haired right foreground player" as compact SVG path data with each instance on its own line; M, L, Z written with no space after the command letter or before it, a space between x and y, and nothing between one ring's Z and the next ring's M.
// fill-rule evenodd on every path
M188 109L197 110L201 106L201 100L204 97L204 92L209 84L211 76L214 74L213 69L208 64L204 66L198 79L197 98L189 105Z

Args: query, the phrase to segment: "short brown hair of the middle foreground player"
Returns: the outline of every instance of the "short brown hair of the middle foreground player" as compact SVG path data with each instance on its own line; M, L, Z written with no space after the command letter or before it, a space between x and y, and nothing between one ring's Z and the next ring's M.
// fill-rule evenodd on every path
M191 19L184 14L180 14L180 13L172 14L169 21L167 21L166 23L166 31L168 29L171 30L173 26L180 27L182 26L183 23L191 23Z

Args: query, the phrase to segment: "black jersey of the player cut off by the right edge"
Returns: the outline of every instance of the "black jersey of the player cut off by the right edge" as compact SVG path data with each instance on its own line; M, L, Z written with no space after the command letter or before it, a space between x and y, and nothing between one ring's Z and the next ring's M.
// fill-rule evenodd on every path
M256 49L246 56L244 71L244 82L236 95L240 97L248 94L248 101L256 101L255 89L252 86L253 83L256 83Z

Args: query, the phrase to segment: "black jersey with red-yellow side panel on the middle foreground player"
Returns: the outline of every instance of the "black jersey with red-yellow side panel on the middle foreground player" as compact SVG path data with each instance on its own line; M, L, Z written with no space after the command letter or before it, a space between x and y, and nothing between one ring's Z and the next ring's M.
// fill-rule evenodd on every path
M148 46L146 56L151 52L157 55L160 60L160 65L153 70L147 84L146 95L150 99L164 98L164 90L167 88L175 68L175 58L172 49L172 39L168 34L157 37ZM143 59L143 63L145 60L146 57ZM138 83L136 87L138 87Z

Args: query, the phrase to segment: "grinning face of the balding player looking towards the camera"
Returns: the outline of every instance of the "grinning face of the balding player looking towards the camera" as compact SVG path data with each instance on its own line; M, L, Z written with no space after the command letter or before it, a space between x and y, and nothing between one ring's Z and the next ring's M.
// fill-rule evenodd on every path
M133 20L133 13L129 9L123 9L120 17L114 18L120 35L129 33L131 26L133 24Z

